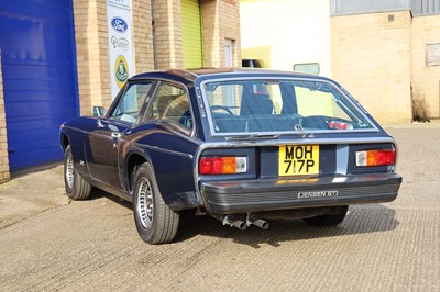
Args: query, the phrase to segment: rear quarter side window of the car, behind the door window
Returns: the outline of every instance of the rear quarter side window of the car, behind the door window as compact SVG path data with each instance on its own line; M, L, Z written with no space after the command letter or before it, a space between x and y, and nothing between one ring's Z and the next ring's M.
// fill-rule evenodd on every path
M169 120L193 128L193 116L187 91L170 83L162 83L150 106L146 120Z

